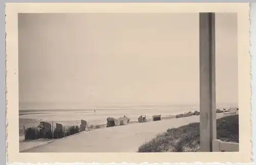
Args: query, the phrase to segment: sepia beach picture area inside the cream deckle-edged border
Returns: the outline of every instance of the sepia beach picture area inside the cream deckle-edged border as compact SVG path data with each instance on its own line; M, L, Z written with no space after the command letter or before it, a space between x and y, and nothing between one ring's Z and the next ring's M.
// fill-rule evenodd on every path
M239 151L237 13L20 13L18 74L19 152Z

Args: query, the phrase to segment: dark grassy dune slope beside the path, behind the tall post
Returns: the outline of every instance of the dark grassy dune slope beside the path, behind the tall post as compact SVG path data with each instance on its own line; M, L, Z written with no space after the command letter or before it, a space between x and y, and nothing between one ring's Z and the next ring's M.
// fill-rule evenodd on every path
M217 139L239 143L239 116L217 119ZM200 123L170 128L139 147L138 152L199 152Z

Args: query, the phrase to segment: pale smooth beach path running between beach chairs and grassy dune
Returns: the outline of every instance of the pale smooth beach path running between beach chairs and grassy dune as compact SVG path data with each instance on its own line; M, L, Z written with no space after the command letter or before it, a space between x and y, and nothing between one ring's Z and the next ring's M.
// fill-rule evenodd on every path
M222 116L223 113L217 113L217 118ZM137 152L156 134L194 122L199 122L199 116L96 129L22 152Z

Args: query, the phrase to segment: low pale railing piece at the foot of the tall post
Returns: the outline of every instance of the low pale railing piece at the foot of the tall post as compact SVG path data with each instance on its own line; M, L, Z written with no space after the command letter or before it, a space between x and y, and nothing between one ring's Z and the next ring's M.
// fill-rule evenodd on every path
M239 152L239 143L222 142L219 139L212 140L213 152Z

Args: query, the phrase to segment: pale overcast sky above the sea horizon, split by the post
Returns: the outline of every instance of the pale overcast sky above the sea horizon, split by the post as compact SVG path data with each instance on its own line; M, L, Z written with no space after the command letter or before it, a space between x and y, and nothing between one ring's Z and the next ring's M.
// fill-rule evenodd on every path
M22 109L199 104L196 13L19 14L18 45ZM237 104L237 14L216 14L216 74Z

